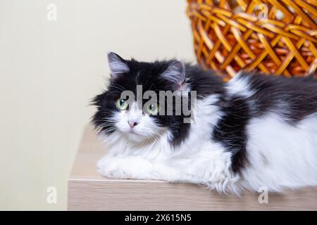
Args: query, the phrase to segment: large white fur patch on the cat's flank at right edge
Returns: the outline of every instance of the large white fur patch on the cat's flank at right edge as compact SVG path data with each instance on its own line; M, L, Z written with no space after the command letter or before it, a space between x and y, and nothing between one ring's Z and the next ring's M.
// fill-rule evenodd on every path
M250 165L242 169L244 188L269 191L317 185L317 117L297 127L274 113L251 120L247 145Z

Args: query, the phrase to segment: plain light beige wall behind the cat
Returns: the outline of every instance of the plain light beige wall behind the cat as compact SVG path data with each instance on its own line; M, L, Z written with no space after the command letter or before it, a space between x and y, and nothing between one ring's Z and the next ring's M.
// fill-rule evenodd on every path
M56 4L57 20L46 18ZM106 52L194 60L185 0L0 0L0 210L65 210ZM46 203L56 186L57 204Z

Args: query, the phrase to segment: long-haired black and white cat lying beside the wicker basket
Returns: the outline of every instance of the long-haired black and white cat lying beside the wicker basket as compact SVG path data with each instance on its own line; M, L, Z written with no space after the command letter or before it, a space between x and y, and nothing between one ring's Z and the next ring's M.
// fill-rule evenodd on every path
M108 54L108 90L92 121L107 146L102 176L202 184L222 193L317 185L317 81L240 72L222 82L179 60L154 63ZM123 91L195 91L191 122L160 115L161 102ZM173 107L173 106L172 106Z

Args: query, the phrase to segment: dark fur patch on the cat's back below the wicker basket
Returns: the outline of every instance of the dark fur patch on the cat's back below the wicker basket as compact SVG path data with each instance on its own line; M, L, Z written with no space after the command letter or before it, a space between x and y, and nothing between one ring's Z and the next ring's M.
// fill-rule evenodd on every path
M296 124L317 113L317 80L312 77L286 78L274 75L245 73L254 95L253 116L278 113L286 122Z

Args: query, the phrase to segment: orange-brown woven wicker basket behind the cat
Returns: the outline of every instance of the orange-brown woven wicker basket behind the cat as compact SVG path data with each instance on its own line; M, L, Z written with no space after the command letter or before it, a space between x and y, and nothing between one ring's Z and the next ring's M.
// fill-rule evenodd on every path
M205 68L305 76L317 67L317 0L187 0Z

